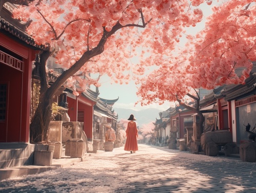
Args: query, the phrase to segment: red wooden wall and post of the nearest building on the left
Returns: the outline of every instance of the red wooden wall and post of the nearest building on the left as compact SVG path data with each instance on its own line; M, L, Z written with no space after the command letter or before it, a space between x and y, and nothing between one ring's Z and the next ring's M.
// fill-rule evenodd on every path
M5 123L0 123L0 142L29 142L32 60L35 52L0 34L0 46L22 57L23 72L0 62L0 82L8 82Z

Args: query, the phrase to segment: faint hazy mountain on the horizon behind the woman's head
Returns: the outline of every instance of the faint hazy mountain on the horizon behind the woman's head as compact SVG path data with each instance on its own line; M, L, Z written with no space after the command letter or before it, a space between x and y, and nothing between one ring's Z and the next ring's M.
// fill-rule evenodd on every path
M147 124L150 122L155 122L156 118L160 119L159 113L162 112L158 109L145 109L141 111L134 111L131 109L121 109L121 108L114 108L115 112L118 114L118 121L120 119L128 119L131 114L135 116L137 119L137 126L142 125L142 124Z

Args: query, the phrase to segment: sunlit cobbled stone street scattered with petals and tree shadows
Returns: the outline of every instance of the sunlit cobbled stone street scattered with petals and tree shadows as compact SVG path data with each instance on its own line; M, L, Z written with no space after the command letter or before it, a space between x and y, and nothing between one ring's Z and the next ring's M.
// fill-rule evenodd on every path
M0 181L0 192L256 192L256 163L139 144L68 168Z

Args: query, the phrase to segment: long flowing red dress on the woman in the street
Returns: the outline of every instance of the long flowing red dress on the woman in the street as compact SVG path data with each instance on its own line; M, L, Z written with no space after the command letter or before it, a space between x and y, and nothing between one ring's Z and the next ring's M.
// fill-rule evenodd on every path
M138 137L138 129L136 122L130 121L128 122L127 129L126 129L126 142L124 145L125 151L138 151L138 143L137 143L137 137Z

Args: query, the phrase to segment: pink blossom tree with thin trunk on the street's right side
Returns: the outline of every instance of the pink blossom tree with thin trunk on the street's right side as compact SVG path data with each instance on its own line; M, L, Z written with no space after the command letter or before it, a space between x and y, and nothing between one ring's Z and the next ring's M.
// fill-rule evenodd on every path
M223 84L245 83L256 58L254 27L255 5L252 1L226 1L212 8L205 28L195 36L188 35L188 43L179 55L166 58L159 69L141 79L138 95L142 104L152 101L178 101L185 108L198 113L199 96L195 88L214 89ZM243 68L241 75L235 70ZM184 100L196 100L190 106Z

